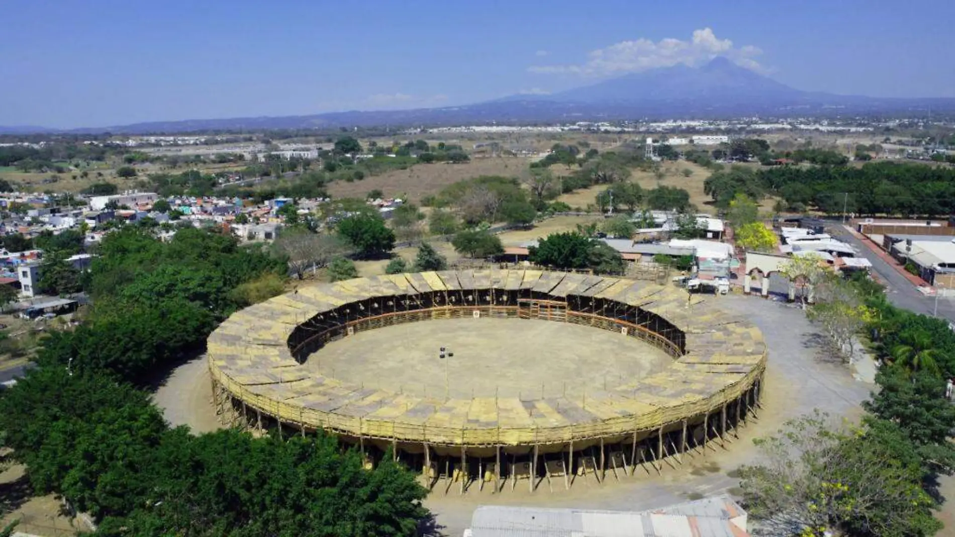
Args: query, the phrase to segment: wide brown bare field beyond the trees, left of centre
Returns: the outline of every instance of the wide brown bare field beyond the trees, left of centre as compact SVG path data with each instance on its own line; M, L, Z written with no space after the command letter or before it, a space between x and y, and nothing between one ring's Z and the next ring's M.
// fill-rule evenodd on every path
M528 163L521 157L495 157L460 164L415 164L405 170L393 170L363 181L336 181L329 184L329 194L332 198L364 198L369 191L380 189L388 197L407 195L416 204L422 197L437 194L445 186L465 179L481 175L522 177L530 173Z

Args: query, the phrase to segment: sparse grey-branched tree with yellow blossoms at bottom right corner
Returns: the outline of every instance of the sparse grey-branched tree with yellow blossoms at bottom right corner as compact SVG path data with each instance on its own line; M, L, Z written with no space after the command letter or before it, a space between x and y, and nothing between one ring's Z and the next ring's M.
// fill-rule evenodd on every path
M891 422L858 431L831 428L825 415L788 421L756 440L755 466L742 468L744 505L773 535L928 536L941 525L922 488L911 444Z

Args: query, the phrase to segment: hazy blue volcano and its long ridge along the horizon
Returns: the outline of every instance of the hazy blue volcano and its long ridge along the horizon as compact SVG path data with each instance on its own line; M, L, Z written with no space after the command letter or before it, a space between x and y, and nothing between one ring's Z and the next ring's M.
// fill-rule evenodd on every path
M4 127L0 134L69 132L115 134L255 131L373 125L460 125L637 118L738 118L851 114L918 115L955 112L955 98L889 98L805 92L716 57L610 78L552 95L517 95L462 106L349 111L310 116L152 121L57 131Z

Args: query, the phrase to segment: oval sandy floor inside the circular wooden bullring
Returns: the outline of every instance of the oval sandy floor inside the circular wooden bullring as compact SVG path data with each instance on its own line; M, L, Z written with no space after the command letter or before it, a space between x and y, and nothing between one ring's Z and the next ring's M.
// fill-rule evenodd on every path
M445 347L453 356L438 357ZM663 351L619 333L528 319L441 319L333 341L316 375L429 397L583 397L658 372Z

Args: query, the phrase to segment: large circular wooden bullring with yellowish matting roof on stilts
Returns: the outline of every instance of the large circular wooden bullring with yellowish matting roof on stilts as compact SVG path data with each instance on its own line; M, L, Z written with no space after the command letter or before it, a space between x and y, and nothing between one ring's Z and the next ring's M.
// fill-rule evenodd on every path
M354 443L370 463L390 452L422 468L429 484L457 482L461 491L490 482L500 489L507 480L513 488L521 479L532 489L543 478L569 486L575 476L600 481L607 472L632 474L640 464L659 469L669 456L682 460L687 451L706 450L708 440L722 440L753 412L766 366L762 334L719 311L716 300L647 282L540 270L358 278L233 314L209 336L209 370L220 417L231 424L277 426L284 435L324 429ZM452 345L439 355L446 341L441 319L459 319L444 321L448 333L474 323L468 350ZM479 331L503 322L488 319L513 319L506 323L516 326L508 328L518 330L504 337L515 345L522 327L530 333L541 320L589 328L584 337L581 327L567 326L561 333L568 339L541 346L541 355L525 349L520 359L499 361L475 349L487 341L495 355L506 354L506 340ZM415 321L435 321L431 361L401 361L422 345L420 333L402 341L401 328L382 331L371 347L358 347L360 354L335 354L336 345L362 333ZM655 347L647 350L660 356L657 366L625 367L621 360L647 354L627 347L637 341L620 339L626 337ZM333 343L338 340L344 341ZM556 362L572 360L554 355L563 348L570 356L595 350L597 361L562 370ZM364 349L374 356L365 359ZM462 359L453 355L462 351L474 369L452 380L449 363ZM342 358L334 362L337 373L316 365L336 357ZM384 362L392 360L397 365L388 369ZM494 377L553 371L572 375L548 377L540 389L490 390ZM416 373L443 379L443 389L440 382L430 389L423 381L399 383Z

